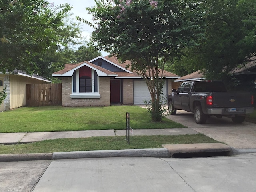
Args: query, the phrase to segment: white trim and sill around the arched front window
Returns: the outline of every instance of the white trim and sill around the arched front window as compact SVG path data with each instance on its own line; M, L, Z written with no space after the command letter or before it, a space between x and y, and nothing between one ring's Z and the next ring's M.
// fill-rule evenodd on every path
M79 68L76 70L76 92L73 92L74 88L74 82L73 82L73 76L71 77L72 79L72 93L70 95L70 98L72 99L99 99L100 94L99 94L99 76L97 75L97 92L94 92L94 70L92 68L91 73L92 73L92 92L78 92L79 91Z

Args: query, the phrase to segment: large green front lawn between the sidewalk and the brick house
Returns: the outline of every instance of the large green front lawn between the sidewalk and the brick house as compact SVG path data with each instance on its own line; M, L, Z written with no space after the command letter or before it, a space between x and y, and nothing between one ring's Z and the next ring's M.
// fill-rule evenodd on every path
M139 106L108 107L21 107L0 113L0 132L50 132L125 129L126 112L134 129L183 128L163 118L152 122L150 113Z

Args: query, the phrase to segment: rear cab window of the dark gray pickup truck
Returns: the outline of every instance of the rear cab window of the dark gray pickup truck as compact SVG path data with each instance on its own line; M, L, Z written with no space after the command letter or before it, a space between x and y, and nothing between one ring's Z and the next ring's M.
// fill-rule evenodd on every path
M194 92L223 92L227 91L223 82L218 81L202 81L195 82Z

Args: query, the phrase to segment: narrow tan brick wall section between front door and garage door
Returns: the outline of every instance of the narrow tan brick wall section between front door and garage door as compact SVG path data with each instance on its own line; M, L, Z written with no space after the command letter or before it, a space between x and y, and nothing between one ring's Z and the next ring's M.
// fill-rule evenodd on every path
M123 80L123 104L133 105L133 80Z

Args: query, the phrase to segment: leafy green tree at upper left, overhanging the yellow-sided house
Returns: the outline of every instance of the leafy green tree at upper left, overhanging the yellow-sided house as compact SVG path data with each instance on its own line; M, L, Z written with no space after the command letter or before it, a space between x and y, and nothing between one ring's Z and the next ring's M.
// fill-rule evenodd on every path
M70 30L62 20L72 8L69 4L53 7L46 0L0 0L0 4L2 72L36 72L50 52L56 52L58 45L66 46L73 37L72 32L63 35ZM37 66L38 61L42 63Z

